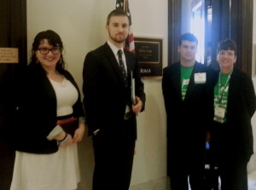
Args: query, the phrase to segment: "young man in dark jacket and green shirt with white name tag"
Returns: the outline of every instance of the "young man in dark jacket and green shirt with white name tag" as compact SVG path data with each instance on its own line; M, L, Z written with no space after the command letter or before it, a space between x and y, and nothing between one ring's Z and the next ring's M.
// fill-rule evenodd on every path
M163 70L167 114L167 172L172 190L203 189L207 123L211 121L212 87L208 67L195 60L197 39L179 39L180 61Z

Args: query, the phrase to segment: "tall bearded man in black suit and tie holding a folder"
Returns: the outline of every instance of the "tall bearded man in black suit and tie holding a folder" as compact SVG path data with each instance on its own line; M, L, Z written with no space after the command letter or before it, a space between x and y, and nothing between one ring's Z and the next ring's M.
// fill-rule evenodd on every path
M129 28L127 14L113 10L106 26L108 42L84 60L84 109L95 153L94 190L128 190L130 186L136 115L145 107L145 94L136 56L123 48ZM131 76L135 78L133 103Z

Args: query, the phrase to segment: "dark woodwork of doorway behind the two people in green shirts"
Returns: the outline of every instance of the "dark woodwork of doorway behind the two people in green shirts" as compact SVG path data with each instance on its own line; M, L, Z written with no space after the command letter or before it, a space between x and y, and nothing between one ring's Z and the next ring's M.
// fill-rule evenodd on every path
M168 0L168 64L179 60L177 39L181 35L182 0ZM189 2L189 1L187 1ZM212 66L218 69L218 41L230 37L237 44L236 68L252 75L253 0L205 0L212 4Z

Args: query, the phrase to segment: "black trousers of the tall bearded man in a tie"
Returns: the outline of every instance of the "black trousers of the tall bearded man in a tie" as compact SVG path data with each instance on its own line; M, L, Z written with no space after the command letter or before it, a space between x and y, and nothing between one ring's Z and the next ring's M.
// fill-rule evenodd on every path
M107 133L100 130L93 137L93 190L129 189L135 148L133 132L128 120L119 131Z

